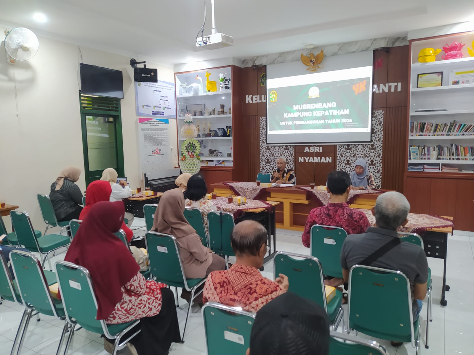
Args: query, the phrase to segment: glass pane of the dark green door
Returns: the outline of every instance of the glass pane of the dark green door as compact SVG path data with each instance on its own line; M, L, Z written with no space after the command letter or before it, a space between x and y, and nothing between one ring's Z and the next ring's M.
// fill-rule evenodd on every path
M114 117L86 116L89 170L117 168Z

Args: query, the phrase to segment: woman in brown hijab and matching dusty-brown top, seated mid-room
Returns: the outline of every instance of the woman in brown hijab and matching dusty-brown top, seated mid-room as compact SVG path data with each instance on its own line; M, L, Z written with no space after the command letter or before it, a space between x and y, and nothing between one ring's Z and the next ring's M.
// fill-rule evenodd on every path
M226 261L202 245L201 238L184 217L184 197L180 189L166 191L155 212L152 231L176 238L186 278L206 277L211 271L224 270ZM188 301L191 293L183 290Z

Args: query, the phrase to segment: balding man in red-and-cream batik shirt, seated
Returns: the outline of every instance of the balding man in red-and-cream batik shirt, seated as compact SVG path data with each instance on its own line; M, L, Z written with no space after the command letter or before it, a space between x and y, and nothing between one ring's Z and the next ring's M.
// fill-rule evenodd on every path
M202 302L219 302L245 311L256 312L288 290L288 277L280 274L275 281L260 274L266 254L267 231L255 221L238 223L230 237L237 261L228 270L209 274Z

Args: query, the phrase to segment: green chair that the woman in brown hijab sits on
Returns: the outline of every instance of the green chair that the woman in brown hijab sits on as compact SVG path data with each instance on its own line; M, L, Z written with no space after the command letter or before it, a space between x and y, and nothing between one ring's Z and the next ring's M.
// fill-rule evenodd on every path
M181 337L184 343L186 325L188 324L188 318L191 314L191 304L192 301L201 294L202 289L199 291L197 291L197 289L201 284L204 284L206 277L188 279L184 276L178 244L176 244L176 238L172 235L147 232L145 234L145 242L148 253L150 277L158 282L172 287L182 287L186 291L191 292L191 300L188 304L188 313ZM176 289L176 298L177 297L178 290Z

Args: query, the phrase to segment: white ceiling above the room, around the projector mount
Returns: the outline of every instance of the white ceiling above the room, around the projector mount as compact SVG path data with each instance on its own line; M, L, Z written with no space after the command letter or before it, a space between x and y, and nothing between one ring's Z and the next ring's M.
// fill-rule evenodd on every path
M197 49L204 0L1 0L0 23L172 65L380 37L474 20L473 0L216 0L218 32L234 46ZM210 34L210 0L204 35ZM33 20L35 12L48 18Z

